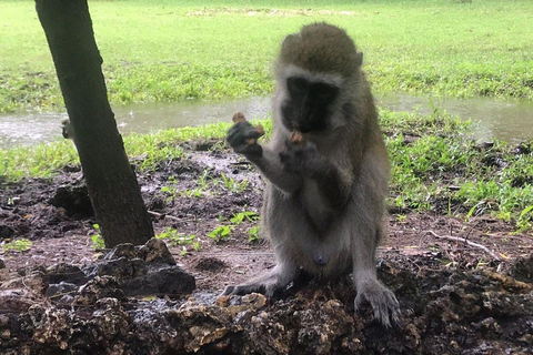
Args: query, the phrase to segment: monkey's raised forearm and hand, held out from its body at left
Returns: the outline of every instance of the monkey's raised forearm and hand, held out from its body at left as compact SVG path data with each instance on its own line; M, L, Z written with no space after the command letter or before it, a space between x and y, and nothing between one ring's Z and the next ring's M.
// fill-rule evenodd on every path
M280 154L269 146L263 146L257 142L250 144L250 139L259 138L255 129L247 122L235 123L227 135L228 143L235 153L244 155L250 162L259 168L261 173L273 185L288 194L293 194L303 184L303 179L296 172L284 170L284 164L280 160Z

